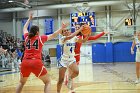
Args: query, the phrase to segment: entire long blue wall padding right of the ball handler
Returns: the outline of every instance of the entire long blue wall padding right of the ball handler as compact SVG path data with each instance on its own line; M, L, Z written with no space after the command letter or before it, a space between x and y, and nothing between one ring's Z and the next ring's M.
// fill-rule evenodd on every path
M135 54L130 48L132 42L94 43L92 44L92 62L135 62ZM136 48L134 49L136 51Z

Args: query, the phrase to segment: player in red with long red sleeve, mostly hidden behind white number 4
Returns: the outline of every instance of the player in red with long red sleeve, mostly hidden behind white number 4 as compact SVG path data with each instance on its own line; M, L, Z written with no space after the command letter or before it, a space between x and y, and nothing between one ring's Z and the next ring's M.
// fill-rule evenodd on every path
M75 31L77 31L78 29L80 29L80 24L77 24L75 26ZM108 31L103 31L100 34L95 35L95 36L89 36L88 41L96 40L105 34L108 34ZM77 37L84 38L85 36L83 36L82 33L80 32L79 34L77 34ZM76 42L74 52L75 52L75 59L76 59L77 65L79 65L79 63L80 63L80 48L81 48L81 46L82 46L82 42ZM65 82L67 82L67 80ZM72 88L71 88L70 93L75 93L73 84L72 84Z

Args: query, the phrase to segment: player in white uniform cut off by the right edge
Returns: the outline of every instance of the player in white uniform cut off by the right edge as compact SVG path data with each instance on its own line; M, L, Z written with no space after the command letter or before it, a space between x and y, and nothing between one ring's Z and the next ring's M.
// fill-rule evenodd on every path
M136 74L137 74L137 80L136 80L136 84L140 83L140 31L136 33L136 36L134 38L134 41L132 43L132 47L131 47L131 54L134 54L134 47L136 46L137 50L136 50Z

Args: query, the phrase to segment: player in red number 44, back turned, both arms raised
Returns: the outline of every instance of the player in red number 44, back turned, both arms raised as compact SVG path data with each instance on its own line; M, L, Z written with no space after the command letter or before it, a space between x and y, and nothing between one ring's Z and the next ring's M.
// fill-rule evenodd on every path
M16 88L16 93L21 93L30 73L35 74L36 77L43 81L45 84L44 93L50 93L50 78L41 60L42 47L46 41L53 39L61 33L61 30L65 28L66 25L63 24L62 27L53 34L39 36L38 26L32 26L28 33L27 27L31 19L32 14L29 15L29 19L23 28L25 37L25 52L20 68L20 83Z

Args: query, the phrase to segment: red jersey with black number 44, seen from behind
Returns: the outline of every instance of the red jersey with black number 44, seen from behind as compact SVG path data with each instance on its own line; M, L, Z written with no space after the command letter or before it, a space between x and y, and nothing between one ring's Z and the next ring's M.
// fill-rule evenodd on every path
M28 38L28 34L24 34L25 37L25 51L23 59L41 59L42 47L47 41L48 36L34 36L31 39Z

